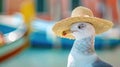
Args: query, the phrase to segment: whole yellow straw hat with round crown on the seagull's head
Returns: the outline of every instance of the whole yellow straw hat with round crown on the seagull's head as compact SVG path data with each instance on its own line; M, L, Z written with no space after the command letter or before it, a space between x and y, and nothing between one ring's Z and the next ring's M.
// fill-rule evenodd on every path
M70 32L70 27L76 22L88 22L92 24L96 34L103 33L113 26L111 21L94 17L90 9L79 6L72 11L71 17L58 21L53 26L53 32L63 38L75 39Z

